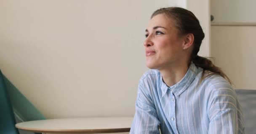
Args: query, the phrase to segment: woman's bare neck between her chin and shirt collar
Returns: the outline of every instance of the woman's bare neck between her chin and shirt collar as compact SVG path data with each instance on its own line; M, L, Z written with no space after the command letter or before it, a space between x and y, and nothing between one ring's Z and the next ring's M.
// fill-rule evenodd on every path
M188 67L187 66L179 66L176 65L175 67L167 67L165 69L159 70L163 81L168 87L175 85L178 83L187 73Z

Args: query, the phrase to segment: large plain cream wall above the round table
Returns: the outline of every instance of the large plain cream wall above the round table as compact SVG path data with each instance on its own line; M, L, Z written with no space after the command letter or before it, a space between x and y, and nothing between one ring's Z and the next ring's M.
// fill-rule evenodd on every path
M133 116L144 31L171 0L1 0L0 68L46 118Z

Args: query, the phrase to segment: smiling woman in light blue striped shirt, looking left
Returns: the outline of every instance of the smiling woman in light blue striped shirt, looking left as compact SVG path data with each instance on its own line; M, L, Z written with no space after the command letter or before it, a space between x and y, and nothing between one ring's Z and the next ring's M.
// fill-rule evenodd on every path
M229 78L197 55L204 38L195 15L156 10L146 29L146 64L130 134L242 134L243 115Z

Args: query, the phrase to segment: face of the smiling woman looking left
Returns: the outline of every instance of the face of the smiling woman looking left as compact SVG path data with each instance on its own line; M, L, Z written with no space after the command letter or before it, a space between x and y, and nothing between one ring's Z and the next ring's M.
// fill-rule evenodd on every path
M183 43L173 20L164 14L155 15L149 21L144 41L147 67L161 70L179 63Z

